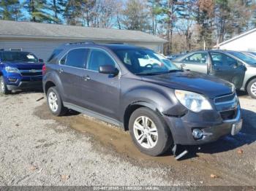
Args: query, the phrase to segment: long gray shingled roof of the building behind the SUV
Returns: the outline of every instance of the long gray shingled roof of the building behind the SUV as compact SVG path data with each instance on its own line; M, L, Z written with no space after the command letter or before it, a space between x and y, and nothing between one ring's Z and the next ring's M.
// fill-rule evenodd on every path
M167 42L142 31L64 26L48 23L0 20L1 37L37 39L91 39L116 42Z

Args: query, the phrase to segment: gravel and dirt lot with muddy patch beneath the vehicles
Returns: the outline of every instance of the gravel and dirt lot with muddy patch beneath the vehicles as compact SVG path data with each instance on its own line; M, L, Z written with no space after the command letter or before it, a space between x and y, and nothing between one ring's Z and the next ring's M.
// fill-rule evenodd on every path
M42 93L0 96L0 185L255 185L256 100L237 136L181 161L141 154L129 134L82 114L53 117Z

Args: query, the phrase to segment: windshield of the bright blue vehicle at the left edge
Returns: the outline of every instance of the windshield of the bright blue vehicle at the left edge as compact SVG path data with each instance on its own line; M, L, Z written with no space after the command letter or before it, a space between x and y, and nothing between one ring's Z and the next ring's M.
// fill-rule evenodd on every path
M4 62L29 62L35 63L38 62L38 59L35 55L30 52L1 52L1 61Z

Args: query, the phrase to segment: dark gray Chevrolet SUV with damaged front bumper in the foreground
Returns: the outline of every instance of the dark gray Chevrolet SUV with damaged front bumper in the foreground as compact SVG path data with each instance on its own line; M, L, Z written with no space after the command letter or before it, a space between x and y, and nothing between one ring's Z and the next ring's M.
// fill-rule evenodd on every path
M235 87L127 44L64 44L43 68L50 112L73 109L129 130L135 145L161 155L178 144L216 141L241 129Z

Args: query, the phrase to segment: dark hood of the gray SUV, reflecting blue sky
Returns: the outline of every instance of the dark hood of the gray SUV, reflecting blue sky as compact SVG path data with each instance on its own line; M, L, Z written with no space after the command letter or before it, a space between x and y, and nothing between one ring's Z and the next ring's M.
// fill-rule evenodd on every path
M230 82L192 71L178 71L155 76L144 76L142 79L146 82L173 89L200 93L208 96L208 98L233 93L233 85Z

